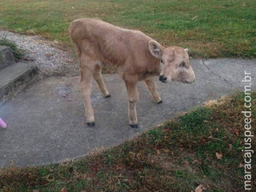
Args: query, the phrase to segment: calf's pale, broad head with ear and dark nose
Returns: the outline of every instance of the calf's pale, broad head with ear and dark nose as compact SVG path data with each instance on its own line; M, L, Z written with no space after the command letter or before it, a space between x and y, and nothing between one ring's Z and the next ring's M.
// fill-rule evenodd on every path
M164 48L156 41L148 42L151 54L161 59L161 74L159 81L179 81L182 83L193 83L195 73L189 63L188 49L181 47Z

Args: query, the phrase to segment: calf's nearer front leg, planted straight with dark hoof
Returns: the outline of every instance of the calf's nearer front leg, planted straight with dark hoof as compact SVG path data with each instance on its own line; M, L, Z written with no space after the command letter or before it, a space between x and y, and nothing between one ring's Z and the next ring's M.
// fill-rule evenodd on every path
M138 118L136 112L136 102L139 99L139 93L137 90L137 83L125 82L127 88L127 96L129 101L128 118L129 125L132 128L138 128Z

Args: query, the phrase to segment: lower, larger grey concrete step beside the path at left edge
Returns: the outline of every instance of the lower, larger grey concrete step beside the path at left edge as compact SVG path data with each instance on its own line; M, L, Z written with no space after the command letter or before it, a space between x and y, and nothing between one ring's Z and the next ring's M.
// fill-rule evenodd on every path
M0 70L0 106L33 81L38 68L33 63L15 63Z

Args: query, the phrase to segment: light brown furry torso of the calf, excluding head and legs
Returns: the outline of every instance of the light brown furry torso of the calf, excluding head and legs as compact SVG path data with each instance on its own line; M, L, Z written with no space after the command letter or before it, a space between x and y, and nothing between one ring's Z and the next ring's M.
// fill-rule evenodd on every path
M115 65L131 75L154 72L159 63L148 48L152 38L141 31L118 28L99 19L77 19L68 33L79 56Z

